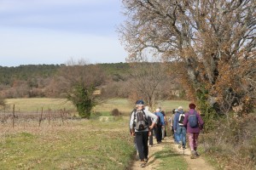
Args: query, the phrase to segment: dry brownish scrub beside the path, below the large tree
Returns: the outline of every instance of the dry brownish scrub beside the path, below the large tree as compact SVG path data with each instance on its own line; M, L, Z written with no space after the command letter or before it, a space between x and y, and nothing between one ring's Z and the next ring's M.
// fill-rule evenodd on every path
M222 117L215 128L202 134L204 150L224 169L253 169L256 166L256 116Z

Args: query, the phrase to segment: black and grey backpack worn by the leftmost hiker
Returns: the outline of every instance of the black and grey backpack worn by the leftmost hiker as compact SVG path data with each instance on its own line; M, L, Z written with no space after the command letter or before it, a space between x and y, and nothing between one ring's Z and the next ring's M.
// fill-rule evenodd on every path
M148 117L143 110L134 111L134 128L137 131L142 131L148 128Z

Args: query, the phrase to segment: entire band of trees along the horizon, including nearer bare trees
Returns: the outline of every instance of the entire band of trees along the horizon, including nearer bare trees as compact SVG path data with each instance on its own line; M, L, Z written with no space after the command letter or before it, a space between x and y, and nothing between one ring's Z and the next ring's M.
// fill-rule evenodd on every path
M91 106L102 99L141 98L152 106L157 99L185 98L177 76L168 75L169 67L160 62L90 65L83 59L71 59L66 65L0 67L0 93L2 99L50 97L74 101L79 95L80 99L90 96L87 101ZM143 87L140 81L148 85Z

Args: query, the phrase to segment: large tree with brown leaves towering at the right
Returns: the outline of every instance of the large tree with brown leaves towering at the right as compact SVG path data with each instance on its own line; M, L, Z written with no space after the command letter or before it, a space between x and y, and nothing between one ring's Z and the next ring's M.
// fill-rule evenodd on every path
M183 68L183 82L195 100L205 100L218 111L218 101L231 90L244 104L255 102L254 0L123 0L127 20L120 37L140 59L154 48L162 59Z

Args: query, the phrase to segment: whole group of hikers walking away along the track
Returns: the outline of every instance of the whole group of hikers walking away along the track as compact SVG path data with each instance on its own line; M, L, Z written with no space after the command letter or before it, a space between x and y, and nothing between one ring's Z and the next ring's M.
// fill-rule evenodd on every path
M148 162L148 138L149 145L153 145L153 138L156 139L157 144L160 144L166 137L168 124L178 148L186 149L186 135L188 134L190 158L194 159L199 156L197 140L204 122L198 111L195 111L195 107L195 104L189 104L189 111L185 113L183 107L179 106L172 111L172 116L167 121L166 113L161 108L156 108L152 113L148 111L148 106L144 106L143 100L137 100L136 108L131 111L130 133L134 137L141 167L146 167Z

